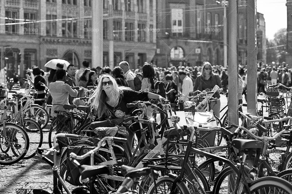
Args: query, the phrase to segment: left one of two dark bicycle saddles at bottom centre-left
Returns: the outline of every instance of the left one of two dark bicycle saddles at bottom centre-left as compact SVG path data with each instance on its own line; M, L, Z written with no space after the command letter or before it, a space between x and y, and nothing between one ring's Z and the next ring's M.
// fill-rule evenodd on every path
M90 178L92 176L107 174L109 173L109 168L104 165L99 166L89 166L89 165L81 165L79 168L79 172L81 173L81 179Z

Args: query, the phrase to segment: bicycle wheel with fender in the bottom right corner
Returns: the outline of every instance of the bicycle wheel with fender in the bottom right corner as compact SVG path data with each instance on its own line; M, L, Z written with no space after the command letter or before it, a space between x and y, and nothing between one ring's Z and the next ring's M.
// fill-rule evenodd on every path
M276 176L259 178L251 183L249 189L251 193L292 193L291 183Z

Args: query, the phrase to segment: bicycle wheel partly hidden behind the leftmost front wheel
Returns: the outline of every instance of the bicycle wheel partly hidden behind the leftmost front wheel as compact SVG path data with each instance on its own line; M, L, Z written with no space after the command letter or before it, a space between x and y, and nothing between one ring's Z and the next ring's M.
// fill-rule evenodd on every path
M23 124L25 126L24 129L26 134L30 140L30 146L23 159L30 159L36 155L37 148L40 148L43 144L43 131L40 125L34 120L23 119ZM34 128L34 130L29 130L31 128Z

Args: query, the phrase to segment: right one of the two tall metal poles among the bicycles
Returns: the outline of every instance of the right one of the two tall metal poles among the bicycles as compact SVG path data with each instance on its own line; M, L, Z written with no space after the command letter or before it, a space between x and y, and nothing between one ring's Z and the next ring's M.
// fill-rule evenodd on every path
M256 0L247 1L247 112L257 114Z

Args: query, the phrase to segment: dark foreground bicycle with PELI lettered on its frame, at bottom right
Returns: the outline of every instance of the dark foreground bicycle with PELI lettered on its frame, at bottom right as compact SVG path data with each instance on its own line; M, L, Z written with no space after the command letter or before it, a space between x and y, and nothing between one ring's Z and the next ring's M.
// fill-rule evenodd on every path
M174 120L174 122L176 122L176 121ZM179 127L177 122L175 123L175 128L176 128L175 130L177 133L183 132L183 130ZM225 129L221 128L221 130L224 131ZM176 175L169 174L169 175L162 176L162 177L158 178L150 186L150 189L147 192L148 194L158 193L158 190L159 190L159 193L183 193L183 194L190 193L188 186L183 181L184 180L183 176L187 172L186 165L188 163L188 157L190 156L190 153L192 153L192 152L194 152L196 154L203 155L203 156L208 156L210 158L214 158L214 159L220 160L220 161L228 164L228 166L234 172L236 172L237 177L238 177L235 184L233 183L233 185L230 185L231 187L235 186L235 187L231 188L232 191L234 191L234 193L242 193L242 192L243 193L257 193L257 192L261 193L260 191L262 189L266 190L267 188L270 190L283 191L285 193L292 192L291 183L289 183L286 180L280 179L278 177L263 177L263 178L259 178L255 181L253 181L253 179L248 175L248 173L245 170L245 159L246 159L246 156L248 155L247 149L250 148L248 146L248 144L242 144L242 146L238 147L240 149L244 149L245 153L244 153L242 162L240 164L238 164L238 166L235 166L231 161L229 161L228 159L225 159L221 156L216 156L214 154L210 154L208 152L204 152L204 151L201 151L199 149L192 148L194 131L195 130L191 130L190 134L188 135L187 148L186 148L186 152L185 152L185 156L184 156L184 160L183 160L183 165L182 165L182 168L180 170L179 175L176 176ZM253 144L253 146L254 146L254 144ZM260 146L262 146L262 145L260 145ZM256 146L255 148L260 148L260 146ZM155 166L151 166L151 167L155 168ZM206 194L206 192L202 188L200 182L198 181L198 179L196 179L196 176L194 176L194 177L195 177L195 179L192 180L192 184L195 186L196 192ZM214 188L215 188L215 186L214 186ZM283 192L281 192L281 193L283 193ZM219 192L213 192L213 193L219 193Z

